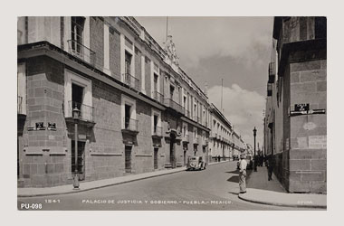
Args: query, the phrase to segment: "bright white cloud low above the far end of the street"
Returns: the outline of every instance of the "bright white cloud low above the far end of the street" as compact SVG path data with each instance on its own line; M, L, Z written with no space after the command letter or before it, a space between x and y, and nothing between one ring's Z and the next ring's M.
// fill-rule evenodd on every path
M210 102L221 109L221 86L208 89ZM258 130L257 142L263 142L263 108L265 99L256 91L242 89L239 85L223 88L224 115L244 141L253 145L253 127Z

